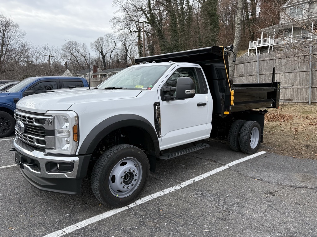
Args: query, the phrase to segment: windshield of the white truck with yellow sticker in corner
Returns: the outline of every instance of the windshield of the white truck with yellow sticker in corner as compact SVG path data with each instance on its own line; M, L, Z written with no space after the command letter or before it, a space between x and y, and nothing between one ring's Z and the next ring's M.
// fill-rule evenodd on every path
M111 76L97 86L98 89L121 87L133 90L152 88L170 65L129 67Z

